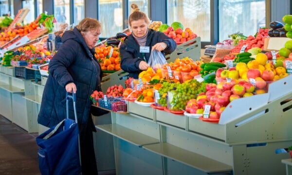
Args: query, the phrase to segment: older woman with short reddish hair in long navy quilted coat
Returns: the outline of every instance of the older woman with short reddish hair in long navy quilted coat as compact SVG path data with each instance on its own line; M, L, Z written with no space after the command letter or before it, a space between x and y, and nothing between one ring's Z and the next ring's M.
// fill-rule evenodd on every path
M73 31L63 34L63 45L49 64L50 76L37 119L46 127L55 126L66 117L66 92L76 93L83 175L97 175L92 137L95 127L89 97L93 90L101 90L101 68L93 56L100 31L101 25L96 19L85 18ZM69 116L74 119L73 107L69 109Z

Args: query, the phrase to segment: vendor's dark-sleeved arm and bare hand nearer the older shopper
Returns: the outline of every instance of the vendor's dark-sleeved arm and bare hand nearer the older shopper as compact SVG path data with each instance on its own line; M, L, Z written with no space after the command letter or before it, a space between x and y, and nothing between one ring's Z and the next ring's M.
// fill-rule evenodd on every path
M121 68L128 73L136 73L145 70L148 65L142 58L135 58L133 53L123 44L120 48Z

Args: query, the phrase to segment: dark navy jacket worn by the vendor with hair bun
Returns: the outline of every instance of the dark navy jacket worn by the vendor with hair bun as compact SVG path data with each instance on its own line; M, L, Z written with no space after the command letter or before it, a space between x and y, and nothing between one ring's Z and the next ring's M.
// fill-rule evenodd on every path
M157 43L164 42L167 47L162 51L164 54L172 53L176 47L176 42L166 36L163 32L153 31L152 29L148 29L148 35L146 40L146 47L150 48L149 53L145 53L146 62L148 62L151 48ZM143 59L143 53L140 53L140 46L136 42L135 38L132 34L126 37L124 43L120 47L121 54L121 68L129 73L129 77L134 79L138 79L138 75L141 72L139 69L139 64Z

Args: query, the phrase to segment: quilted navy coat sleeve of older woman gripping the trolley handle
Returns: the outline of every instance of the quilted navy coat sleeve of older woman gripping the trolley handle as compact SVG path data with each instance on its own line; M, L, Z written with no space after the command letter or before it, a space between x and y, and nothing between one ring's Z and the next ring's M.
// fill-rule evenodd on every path
M74 44L73 42L64 43L49 63L50 75L64 88L67 84L73 82L67 68L75 61L77 55L77 50L74 50L74 48L78 48L78 46L72 46Z

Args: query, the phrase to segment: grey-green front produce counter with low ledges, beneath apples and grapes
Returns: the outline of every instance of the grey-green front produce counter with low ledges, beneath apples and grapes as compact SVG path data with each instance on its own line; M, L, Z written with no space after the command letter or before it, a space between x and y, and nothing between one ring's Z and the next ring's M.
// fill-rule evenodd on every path
M232 101L219 124L128 102L128 114L111 112L111 123L96 128L114 136L117 175L282 175L289 153L277 150L292 144L291 87L288 76L267 94Z

